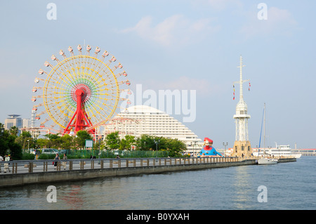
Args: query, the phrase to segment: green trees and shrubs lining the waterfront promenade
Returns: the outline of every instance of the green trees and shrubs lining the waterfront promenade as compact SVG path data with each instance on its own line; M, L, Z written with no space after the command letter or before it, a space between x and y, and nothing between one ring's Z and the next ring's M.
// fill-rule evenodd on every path
M3 124L0 124L0 127ZM67 150L68 159L89 159L91 154L97 158L115 158L117 154L121 158L132 157L182 157L182 152L186 150L185 143L178 139L164 138L158 136L142 135L138 138L126 135L119 138L119 132L110 133L105 136L105 140L97 140L93 143L93 150L85 148L86 140L93 137L87 131L78 131L77 136L65 134L46 134L46 138L32 138L28 131L23 131L20 136L15 136L15 129L4 130L0 136L0 154L4 156L11 153L13 159L34 159L34 154L22 154L22 148L45 147ZM99 155L99 149L100 155ZM62 158L60 154L60 158ZM55 154L40 154L38 159L54 159Z

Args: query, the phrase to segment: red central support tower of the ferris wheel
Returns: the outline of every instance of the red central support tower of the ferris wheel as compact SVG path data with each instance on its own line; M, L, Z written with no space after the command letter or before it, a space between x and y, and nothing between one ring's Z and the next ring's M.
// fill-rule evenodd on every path
M83 85L85 86L85 85ZM86 92L87 89L85 88L77 88L74 91L74 94L72 94L73 98L77 101L77 110L74 112L74 115L72 116L72 119L67 124L66 128L64 129L65 133L70 133L70 131L74 131L74 133L77 133L77 131L84 130L88 128L89 126L92 126L91 120L88 118L88 114L86 114L86 110L84 107L84 102L86 101L87 95L90 93ZM96 133L96 129L91 129L88 131L91 134Z

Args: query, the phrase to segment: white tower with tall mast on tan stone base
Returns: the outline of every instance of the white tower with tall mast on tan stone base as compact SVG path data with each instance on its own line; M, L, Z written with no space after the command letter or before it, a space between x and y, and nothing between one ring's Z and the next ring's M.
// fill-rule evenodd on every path
M248 136L248 119L250 115L247 112L247 105L244 102L244 96L242 95L242 84L247 80L242 80L242 55L240 55L240 75L239 81L235 81L234 84L239 84L239 102L236 106L236 114L234 115L235 123L236 123L236 139L234 144L234 150L232 156L237 157L246 157L251 156L251 145L249 142Z

